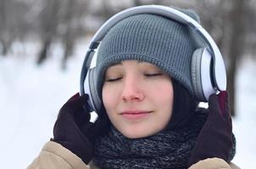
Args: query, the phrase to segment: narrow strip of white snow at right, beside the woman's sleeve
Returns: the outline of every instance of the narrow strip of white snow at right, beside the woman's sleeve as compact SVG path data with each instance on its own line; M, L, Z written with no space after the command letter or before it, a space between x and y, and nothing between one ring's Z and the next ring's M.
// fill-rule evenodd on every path
M237 117L233 131L237 137L237 155L234 158L242 169L256 165L256 61L242 63L237 78Z

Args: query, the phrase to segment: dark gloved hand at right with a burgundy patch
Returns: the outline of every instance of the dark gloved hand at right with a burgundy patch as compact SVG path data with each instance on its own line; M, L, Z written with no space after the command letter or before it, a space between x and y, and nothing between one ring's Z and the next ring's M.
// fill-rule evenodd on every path
M232 146L232 123L228 94L209 96L209 116L198 134L192 150L190 166L207 158L218 157L227 162Z

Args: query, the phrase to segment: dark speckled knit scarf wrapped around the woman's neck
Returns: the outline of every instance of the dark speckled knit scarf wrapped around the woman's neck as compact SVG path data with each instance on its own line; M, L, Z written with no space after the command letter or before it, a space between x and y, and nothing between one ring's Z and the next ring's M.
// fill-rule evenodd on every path
M183 128L165 129L142 139L127 139L114 127L97 139L93 162L100 168L187 168L187 161L206 119L197 113Z

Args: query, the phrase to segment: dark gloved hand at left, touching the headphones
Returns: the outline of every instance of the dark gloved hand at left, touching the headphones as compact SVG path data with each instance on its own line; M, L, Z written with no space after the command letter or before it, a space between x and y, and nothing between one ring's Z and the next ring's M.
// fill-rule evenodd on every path
M75 94L58 113L53 128L52 141L79 156L86 164L94 155L94 139L101 134L101 128L90 122L88 95Z

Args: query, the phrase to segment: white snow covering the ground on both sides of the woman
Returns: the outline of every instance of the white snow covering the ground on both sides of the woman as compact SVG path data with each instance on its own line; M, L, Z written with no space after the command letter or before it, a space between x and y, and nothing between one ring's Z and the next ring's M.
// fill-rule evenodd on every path
M79 91L81 64L86 41L76 46L68 68L60 69L62 47L52 46L51 58L36 66L36 42L15 43L12 53L0 56L0 159L1 168L28 166L53 137L59 108ZM255 167L256 160L256 61L240 63L237 74L237 155L233 162L241 168Z

